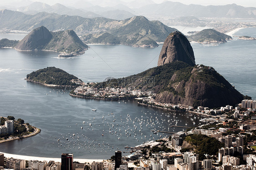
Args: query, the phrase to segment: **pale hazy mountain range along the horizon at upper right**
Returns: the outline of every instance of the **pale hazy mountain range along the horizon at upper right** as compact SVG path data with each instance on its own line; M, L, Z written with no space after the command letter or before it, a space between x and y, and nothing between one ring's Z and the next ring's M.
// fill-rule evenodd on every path
M256 8L240 5L184 5L179 2L165 1L161 4L145 5L135 10L140 15L152 16L195 16L197 18L256 18Z

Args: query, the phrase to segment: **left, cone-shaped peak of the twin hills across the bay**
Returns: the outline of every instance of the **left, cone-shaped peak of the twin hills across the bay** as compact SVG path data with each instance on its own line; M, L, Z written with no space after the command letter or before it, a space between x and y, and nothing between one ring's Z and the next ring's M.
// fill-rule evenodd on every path
M51 32L46 27L40 26L26 35L15 48L17 50L41 50L51 38Z

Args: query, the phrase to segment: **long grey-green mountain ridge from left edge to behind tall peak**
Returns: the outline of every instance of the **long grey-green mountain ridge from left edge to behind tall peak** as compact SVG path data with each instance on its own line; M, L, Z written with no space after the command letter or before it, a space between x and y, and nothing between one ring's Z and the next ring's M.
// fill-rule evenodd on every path
M159 21L149 21L143 16L135 16L126 20L112 20L48 14L46 12L26 15L11 10L0 10L0 23L0 29L4 30L31 31L44 25L51 31L72 29L78 35L83 35L81 39L85 43L123 44L142 47L156 47L158 46L156 42L164 42L165 38L176 30ZM108 34L98 38L103 33ZM111 41L108 41L109 38Z

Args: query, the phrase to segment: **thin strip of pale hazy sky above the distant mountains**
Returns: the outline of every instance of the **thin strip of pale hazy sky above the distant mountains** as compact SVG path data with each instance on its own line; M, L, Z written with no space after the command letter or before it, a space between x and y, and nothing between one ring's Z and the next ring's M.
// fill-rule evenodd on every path
M26 0L0 0L0 6L4 6L6 4L14 3L19 1L20 3L25 2ZM69 4L78 0L31 0L31 1L39 1L44 2L49 5L54 5L56 3L60 4ZM89 0L88 0L89 1ZM108 0L107 0L108 1ZM133 1L133 0L123 0L123 1ZM140 1L140 0L136 0ZM146 1L146 0L143 0ZM164 0L153 0L155 3L162 3ZM181 2L183 4L198 4L198 5L226 5L226 4L237 4L245 7L256 7L256 0L171 0L176 2ZM20 4L19 3L19 4ZM13 4L13 5L14 5ZM25 3L24 3L25 4Z

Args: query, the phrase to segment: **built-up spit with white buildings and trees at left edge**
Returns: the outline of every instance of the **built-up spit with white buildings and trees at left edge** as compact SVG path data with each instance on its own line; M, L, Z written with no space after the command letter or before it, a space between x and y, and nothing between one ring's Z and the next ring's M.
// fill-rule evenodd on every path
M22 119L13 116L1 117L0 143L22 138L28 138L40 133L40 129L25 123Z

